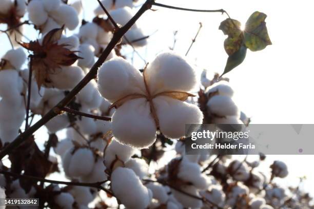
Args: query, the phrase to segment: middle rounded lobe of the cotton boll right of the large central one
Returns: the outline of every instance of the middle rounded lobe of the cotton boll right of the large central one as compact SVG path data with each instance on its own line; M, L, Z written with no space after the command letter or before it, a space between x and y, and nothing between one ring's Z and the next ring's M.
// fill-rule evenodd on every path
M207 107L211 114L218 116L237 116L240 114L237 105L228 96L216 95L211 97L207 102Z

